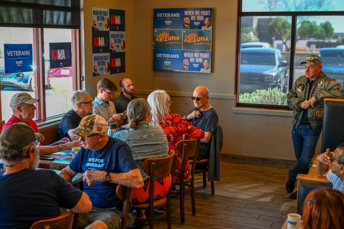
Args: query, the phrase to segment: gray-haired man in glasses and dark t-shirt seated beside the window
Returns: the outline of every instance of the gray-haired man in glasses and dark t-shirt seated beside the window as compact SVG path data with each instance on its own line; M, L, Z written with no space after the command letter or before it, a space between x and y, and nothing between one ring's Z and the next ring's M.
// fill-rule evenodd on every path
M92 99L85 90L74 91L71 101L73 109L63 115L58 125L57 139L67 137L75 140L72 130L79 126L82 118L92 114Z

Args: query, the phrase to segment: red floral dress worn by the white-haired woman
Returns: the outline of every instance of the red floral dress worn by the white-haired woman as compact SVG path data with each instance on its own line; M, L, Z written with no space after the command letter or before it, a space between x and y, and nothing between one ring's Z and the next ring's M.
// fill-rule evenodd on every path
M167 140L169 142L169 152L171 150L175 151L175 144L178 141L183 140L183 134L187 135L190 139L203 138L204 131L200 128L192 126L188 121L178 114L170 114L165 116L165 123L160 123L160 126L163 127L166 134ZM180 181L180 168L181 168L181 154L175 151L177 154L177 162L175 165L175 172L173 183L179 183ZM189 178L190 176L190 162L189 158L186 159L185 163L185 174L184 179Z

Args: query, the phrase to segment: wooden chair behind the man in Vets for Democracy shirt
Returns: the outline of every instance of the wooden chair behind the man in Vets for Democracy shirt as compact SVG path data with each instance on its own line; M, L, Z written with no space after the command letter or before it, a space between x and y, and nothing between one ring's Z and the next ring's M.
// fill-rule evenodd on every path
M118 184L116 188L117 197L119 198L119 200L123 201L121 229L127 228L128 212L133 196L133 190L133 188L121 184Z

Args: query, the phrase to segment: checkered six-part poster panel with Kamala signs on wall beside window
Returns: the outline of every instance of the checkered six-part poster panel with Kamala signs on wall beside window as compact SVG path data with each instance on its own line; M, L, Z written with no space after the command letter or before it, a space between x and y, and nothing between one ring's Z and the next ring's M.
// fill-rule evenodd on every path
M93 76L125 72L125 11L92 7Z

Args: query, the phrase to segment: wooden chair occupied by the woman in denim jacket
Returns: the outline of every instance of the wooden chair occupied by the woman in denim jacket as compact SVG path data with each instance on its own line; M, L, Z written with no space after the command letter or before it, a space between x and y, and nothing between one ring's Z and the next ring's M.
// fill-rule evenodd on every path
M176 163L177 155L172 152L169 156L159 158L148 158L143 161L143 171L150 177L150 190L149 190L149 202L144 204L133 204L132 207L136 209L138 217L137 221L149 222L149 228L154 229L154 219L160 219L167 215L167 226L171 229L171 188L167 195L159 200L154 200L154 179L165 178L171 174L171 187L173 183L174 168ZM157 208L165 208L165 212L159 216L154 217L153 210ZM145 210L147 218L142 218L141 211Z

